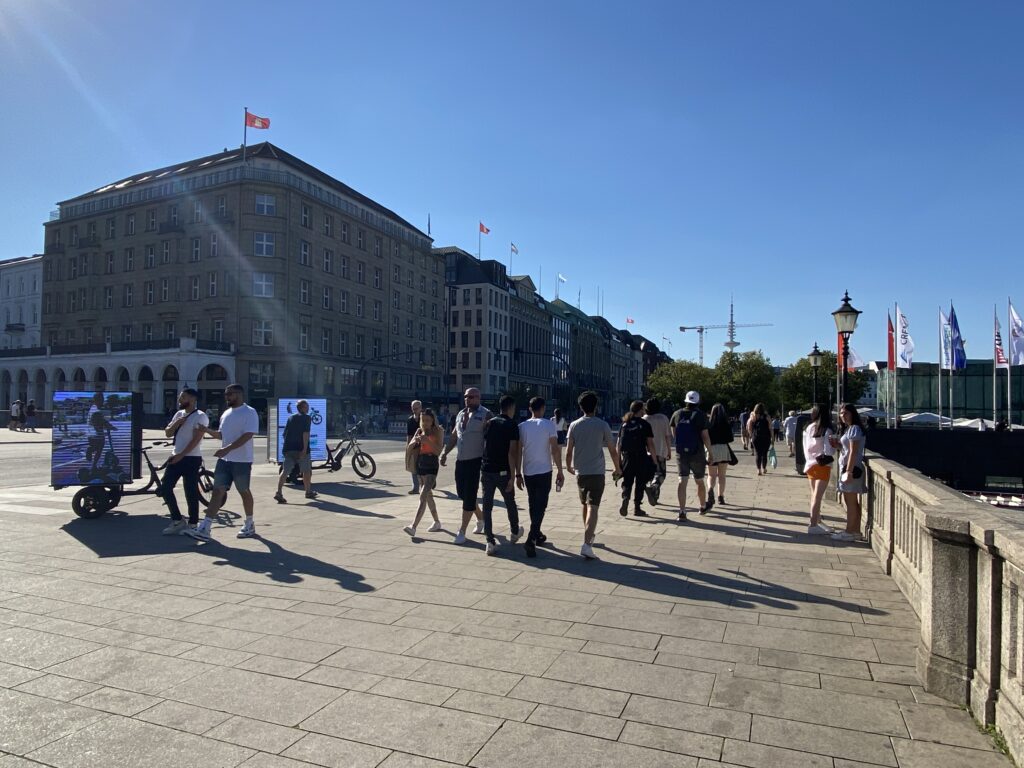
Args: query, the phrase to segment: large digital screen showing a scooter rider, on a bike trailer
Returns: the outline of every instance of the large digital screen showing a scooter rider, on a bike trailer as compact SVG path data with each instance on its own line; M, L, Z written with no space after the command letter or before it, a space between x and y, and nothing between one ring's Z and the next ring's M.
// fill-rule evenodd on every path
M131 482L132 397L132 392L54 393L50 484Z

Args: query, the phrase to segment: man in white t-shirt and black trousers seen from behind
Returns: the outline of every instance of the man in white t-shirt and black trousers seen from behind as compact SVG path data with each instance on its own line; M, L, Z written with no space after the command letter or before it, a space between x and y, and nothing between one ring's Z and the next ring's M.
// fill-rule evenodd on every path
M543 397L532 398L529 401L530 418L519 425L520 450L515 480L520 490L526 488L529 501L529 534L523 545L526 557L537 557L537 545L548 541L541 532L541 525L548 509L548 497L551 496L552 462L558 467L555 490L561 490L562 482L565 481L562 474L562 451L558 446L558 430L551 421L544 418L544 409Z

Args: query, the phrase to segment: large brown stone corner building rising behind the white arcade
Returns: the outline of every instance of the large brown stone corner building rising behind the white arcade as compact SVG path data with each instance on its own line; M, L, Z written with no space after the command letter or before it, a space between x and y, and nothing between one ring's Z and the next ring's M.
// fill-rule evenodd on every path
M170 376L173 391L215 374L211 398L239 379L257 408L318 395L335 418L404 409L444 392L443 259L430 246L270 143L245 160L232 150L176 163L59 204L46 224L43 343L105 353L85 388L116 380L120 353L189 341L194 368L209 353L221 370L135 364L120 383Z

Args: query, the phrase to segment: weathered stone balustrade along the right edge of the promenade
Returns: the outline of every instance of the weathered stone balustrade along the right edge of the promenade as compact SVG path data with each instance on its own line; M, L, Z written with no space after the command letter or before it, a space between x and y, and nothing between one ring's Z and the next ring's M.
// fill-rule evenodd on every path
M994 725L1024 763L1024 514L869 456L864 535L921 618L931 693Z

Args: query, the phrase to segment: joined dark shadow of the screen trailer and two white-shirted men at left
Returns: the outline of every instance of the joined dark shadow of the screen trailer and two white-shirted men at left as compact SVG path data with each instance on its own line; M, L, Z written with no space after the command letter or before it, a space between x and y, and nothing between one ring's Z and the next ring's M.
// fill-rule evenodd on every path
M75 518L62 526L70 536L88 547L98 557L138 557L195 552L216 558L214 565L260 573L282 584L301 584L306 578L334 581L348 592L372 592L361 573L340 565L300 555L262 537L256 540L265 552L231 547L216 537L234 538L233 528L215 528L214 540L197 542L183 536L161 536L168 522L163 515L129 515L108 512L93 520ZM229 578L229 577L226 577Z

